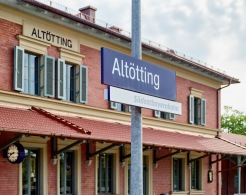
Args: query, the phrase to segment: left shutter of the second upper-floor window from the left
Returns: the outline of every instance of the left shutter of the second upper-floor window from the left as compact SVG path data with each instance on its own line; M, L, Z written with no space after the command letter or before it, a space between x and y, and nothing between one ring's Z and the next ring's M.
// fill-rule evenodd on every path
M66 64L62 59L57 59L57 98L66 99Z

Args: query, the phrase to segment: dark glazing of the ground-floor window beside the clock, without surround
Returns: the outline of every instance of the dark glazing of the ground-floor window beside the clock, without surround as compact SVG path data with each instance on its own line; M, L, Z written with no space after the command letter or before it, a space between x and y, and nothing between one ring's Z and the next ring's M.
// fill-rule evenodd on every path
M22 162L22 194L40 194L40 150L25 149Z

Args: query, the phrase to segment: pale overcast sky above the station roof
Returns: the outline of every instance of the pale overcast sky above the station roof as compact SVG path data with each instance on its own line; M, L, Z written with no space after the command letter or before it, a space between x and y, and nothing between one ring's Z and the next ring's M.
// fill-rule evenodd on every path
M96 18L131 32L131 0L54 0L73 10L91 5ZM222 90L222 106L246 113L246 1L142 0L142 37L240 79Z

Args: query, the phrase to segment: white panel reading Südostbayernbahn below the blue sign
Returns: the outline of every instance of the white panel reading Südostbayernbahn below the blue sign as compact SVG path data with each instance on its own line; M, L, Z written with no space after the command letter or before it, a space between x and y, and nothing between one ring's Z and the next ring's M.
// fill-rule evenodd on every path
M108 88L108 100L142 108L173 113L177 115L182 114L182 105L179 102L170 101L112 86L109 86Z

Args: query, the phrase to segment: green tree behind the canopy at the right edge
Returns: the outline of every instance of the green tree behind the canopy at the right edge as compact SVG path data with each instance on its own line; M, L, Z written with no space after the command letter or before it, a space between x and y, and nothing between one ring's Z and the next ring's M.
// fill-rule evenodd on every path
M221 117L221 127L229 133L246 135L246 114L224 106L225 113Z

